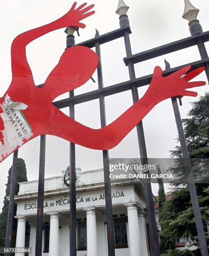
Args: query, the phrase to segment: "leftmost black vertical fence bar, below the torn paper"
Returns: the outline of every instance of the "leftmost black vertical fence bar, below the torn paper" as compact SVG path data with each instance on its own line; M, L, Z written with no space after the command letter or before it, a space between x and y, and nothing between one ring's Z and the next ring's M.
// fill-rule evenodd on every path
M18 164L18 149L13 153L13 166L12 166L11 182L10 182L10 201L9 201L9 210L8 210L8 219L7 219L5 247L11 247L14 200L15 200L15 184L17 180L17 164Z

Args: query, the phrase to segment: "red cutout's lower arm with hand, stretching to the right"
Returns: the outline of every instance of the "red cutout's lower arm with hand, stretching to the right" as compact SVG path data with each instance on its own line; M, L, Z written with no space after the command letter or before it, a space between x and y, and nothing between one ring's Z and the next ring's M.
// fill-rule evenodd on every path
M167 77L162 77L162 70L156 67L145 95L131 108L126 110L113 123L101 128L88 128L71 118L66 118L60 110L54 109L56 122L48 126L48 134L62 137L81 146L106 150L116 146L159 102L174 96L196 96L196 92L185 89L202 86L205 82L188 82L204 71L204 67L181 77L191 67L185 67ZM61 125L60 125L61 124Z

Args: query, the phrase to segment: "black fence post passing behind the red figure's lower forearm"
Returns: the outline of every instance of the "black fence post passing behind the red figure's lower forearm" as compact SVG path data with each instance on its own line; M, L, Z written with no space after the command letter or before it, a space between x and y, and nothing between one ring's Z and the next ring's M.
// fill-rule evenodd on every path
M121 28L123 26L129 26L129 20L126 14L121 15L119 19L120 19ZM131 56L132 55L131 42L130 42L129 33L127 31L125 31L124 33L124 41L126 46L126 56L127 57ZM136 79L134 65L133 63L131 63L131 61L128 63L128 72L129 72L130 79ZM132 92L133 103L135 103L139 99L137 87L133 85L131 92ZM136 126L136 130L137 130L138 145L139 145L142 164L146 164L148 162L148 159L147 159L146 143L145 143L144 128L143 128L142 121ZM147 216L149 221L151 252L152 252L152 255L160 256L160 245L159 245L159 236L158 236L155 211L154 211L154 200L153 200L151 182L149 179L147 179L147 181L144 182L144 190L145 190L145 198L146 198Z

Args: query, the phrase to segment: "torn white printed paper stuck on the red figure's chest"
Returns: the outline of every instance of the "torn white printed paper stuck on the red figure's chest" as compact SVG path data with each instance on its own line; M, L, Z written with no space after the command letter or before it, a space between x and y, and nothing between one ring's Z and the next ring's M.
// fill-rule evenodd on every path
M0 105L3 113L0 117L4 123L4 130L1 131L0 161L13 152L18 146L23 145L23 139L33 136L32 128L26 120L23 112L28 106L22 102L13 102L9 95L5 96L3 105Z

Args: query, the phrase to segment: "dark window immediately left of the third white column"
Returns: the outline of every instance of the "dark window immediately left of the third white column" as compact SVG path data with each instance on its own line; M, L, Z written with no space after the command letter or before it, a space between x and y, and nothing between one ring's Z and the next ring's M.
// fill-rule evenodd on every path
M86 221L78 221L78 251L87 249Z

